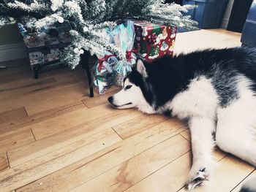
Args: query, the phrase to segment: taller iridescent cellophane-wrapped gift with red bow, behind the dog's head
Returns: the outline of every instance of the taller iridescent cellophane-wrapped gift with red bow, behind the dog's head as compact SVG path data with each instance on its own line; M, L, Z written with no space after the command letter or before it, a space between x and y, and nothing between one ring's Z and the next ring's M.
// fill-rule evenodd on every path
M132 20L127 20L125 23L117 26L110 35L113 43L121 50L121 53L126 53L126 58L118 61L114 66L113 84L122 86L124 77L132 71L132 66L136 64L137 50L132 49L135 40L134 23Z

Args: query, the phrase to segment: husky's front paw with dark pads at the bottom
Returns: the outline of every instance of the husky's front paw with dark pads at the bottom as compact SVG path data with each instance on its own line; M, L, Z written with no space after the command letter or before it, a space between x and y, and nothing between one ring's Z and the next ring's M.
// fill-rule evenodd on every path
M206 167L203 167L202 169L192 169L189 173L189 178L187 180L187 188L188 190L192 190L193 188L196 188L203 183L206 183L209 177L209 172L207 171Z

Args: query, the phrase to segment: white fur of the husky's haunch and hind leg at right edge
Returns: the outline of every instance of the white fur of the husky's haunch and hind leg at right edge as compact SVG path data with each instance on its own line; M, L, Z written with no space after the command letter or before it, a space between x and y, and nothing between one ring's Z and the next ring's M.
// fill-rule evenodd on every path
M249 90L251 82L240 77L239 99L217 110L217 145L227 153L256 166L256 97Z

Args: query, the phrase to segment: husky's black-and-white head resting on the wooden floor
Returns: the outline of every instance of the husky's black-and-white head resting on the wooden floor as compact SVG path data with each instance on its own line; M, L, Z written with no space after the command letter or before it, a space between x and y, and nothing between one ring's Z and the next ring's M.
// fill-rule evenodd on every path
M108 101L117 109L126 109L148 105L145 98L146 64L138 59L136 67L124 78L121 91L110 96Z

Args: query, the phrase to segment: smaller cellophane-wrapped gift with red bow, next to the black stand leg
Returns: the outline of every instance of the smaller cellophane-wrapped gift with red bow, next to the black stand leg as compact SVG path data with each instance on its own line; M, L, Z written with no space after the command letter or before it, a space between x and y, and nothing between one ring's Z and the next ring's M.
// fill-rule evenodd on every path
M105 94L105 91L113 83L113 66L116 65L118 59L115 55L107 53L103 58L99 58L92 69L94 73L94 86L99 94Z

